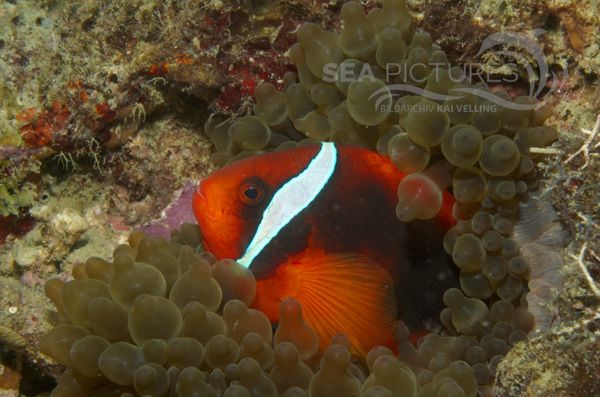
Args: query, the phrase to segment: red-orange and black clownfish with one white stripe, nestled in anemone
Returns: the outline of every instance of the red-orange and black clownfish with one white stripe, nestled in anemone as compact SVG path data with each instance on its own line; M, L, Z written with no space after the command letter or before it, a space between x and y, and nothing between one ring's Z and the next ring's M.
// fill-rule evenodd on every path
M277 323L297 299L321 348L343 333L362 355L390 344L394 322L437 321L457 274L444 251L452 195L429 220L400 221L391 160L325 142L239 160L202 180L193 210L203 243L256 278L252 306Z

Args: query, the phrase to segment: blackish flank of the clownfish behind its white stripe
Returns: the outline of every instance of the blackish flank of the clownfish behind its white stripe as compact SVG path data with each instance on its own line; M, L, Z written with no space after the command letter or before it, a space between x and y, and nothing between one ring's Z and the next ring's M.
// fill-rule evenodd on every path
M438 323L444 291L459 285L458 270L443 248L445 230L436 219L399 221L395 194L366 171L340 151L327 185L256 256L250 269L258 279L268 277L306 249L364 255L393 275L399 319L410 329Z

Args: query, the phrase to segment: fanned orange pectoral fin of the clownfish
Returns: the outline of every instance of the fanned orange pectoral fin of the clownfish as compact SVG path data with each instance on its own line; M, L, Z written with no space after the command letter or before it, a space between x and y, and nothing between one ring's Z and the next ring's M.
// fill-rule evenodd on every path
M389 342L397 306L387 270L357 254L316 254L301 262L295 295L319 335L321 350L339 333L363 356Z

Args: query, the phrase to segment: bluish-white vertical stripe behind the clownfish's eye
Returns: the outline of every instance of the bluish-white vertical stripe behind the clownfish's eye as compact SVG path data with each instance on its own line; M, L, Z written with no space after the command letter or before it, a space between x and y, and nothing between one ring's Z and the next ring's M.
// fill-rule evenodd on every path
M275 192L246 252L237 260L240 264L250 267L254 258L279 234L281 229L313 202L333 175L336 163L335 144L322 143L321 150L308 166Z

